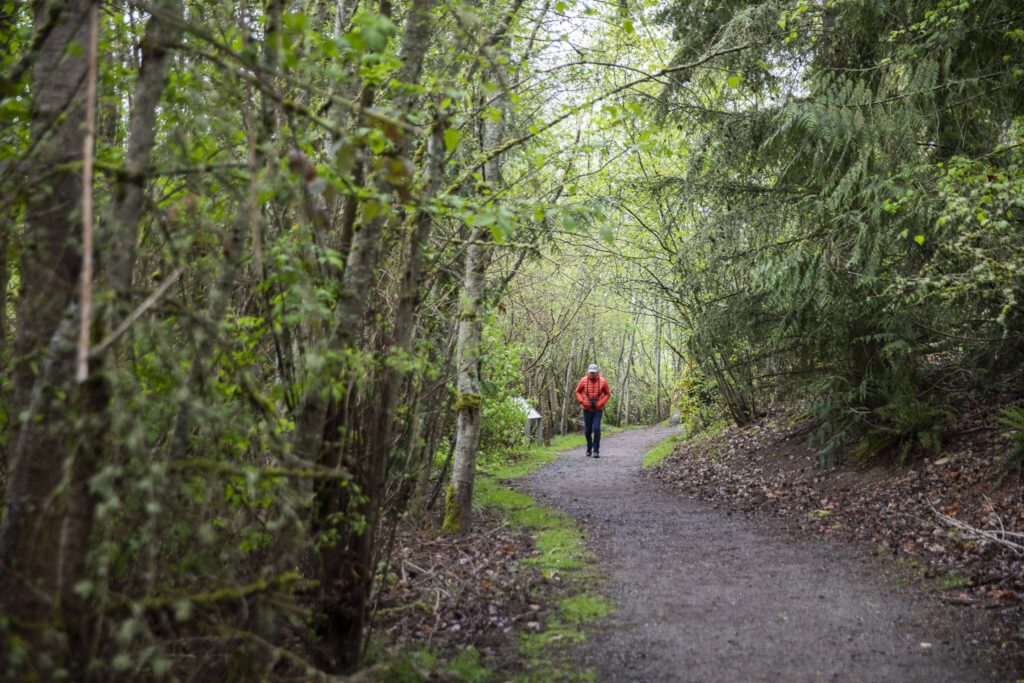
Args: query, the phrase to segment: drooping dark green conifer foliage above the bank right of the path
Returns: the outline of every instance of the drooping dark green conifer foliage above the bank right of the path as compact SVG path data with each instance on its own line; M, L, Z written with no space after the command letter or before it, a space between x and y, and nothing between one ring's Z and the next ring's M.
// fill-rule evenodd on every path
M823 462L905 460L968 378L1021 367L1024 50L996 16L1020 24L1004 0L663 10L678 61L734 49L660 93L692 141L645 159L672 213L636 244L734 422L803 403Z

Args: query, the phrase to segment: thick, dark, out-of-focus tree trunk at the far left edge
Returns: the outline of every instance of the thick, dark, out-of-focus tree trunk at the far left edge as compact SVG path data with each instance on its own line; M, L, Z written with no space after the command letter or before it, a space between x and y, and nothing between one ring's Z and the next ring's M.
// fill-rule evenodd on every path
M0 526L0 607L30 643L57 627L60 596L79 579L77 566L60 561L61 479L74 457L72 311L81 268L82 181L74 169L82 161L87 70L86 58L70 48L89 44L91 6L90 0L65 4L32 68L32 173L46 174L50 191L29 193L26 204L10 412L24 418L12 425ZM39 3L37 28L46 20Z

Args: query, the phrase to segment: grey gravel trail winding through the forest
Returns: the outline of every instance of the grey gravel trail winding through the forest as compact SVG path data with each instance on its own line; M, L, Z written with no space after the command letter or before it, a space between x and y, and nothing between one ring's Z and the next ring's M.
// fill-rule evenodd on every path
M795 540L640 476L664 427L602 439L518 487L582 522L616 611L579 652L601 681L997 681L969 610L912 597L871 558Z

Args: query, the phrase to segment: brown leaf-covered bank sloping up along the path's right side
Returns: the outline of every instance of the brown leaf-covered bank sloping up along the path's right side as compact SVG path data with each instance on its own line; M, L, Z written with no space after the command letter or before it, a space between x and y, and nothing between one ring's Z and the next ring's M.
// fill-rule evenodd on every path
M902 467L850 459L821 468L807 445L810 425L775 415L681 442L647 476L716 507L771 515L797 533L895 559L940 600L989 611L995 638L1021 650L1024 485L1018 474L994 486L1008 442L989 425L983 410L969 412L941 454Z

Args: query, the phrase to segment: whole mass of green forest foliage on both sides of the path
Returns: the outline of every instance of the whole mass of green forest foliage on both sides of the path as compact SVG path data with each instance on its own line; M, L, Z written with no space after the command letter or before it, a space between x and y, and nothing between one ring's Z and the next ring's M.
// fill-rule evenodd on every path
M31 418L54 466L6 466L32 462L32 481L63 473L40 509L77 510L66 497L84 492L92 513L67 584L88 596L88 638L31 641L6 620L7 660L55 672L76 660L68 643L88 641L79 664L97 680L334 661L338 643L317 632L328 587L361 613L370 589L352 577L381 551L365 543L424 498L455 411L480 409L483 471L522 474L582 437L524 450L513 399L549 436L572 432L590 361L612 388L606 433L664 419L675 390L688 432L785 401L808 407L825 458L938 450L955 397L1001 388L1024 359L1018 5L558 2L551 25L525 6L445 0L421 40L407 6L207 3L161 45L160 12L105 4L90 341L111 343L91 359L96 385L79 386L74 342L16 299L77 268L82 140L57 163L41 154L50 89L32 79L43 57L62 69L87 51L52 47L66 32L39 24L48 12L6 3L0 445ZM659 28L637 30L655 11L674 63L700 65L623 88L667 66ZM561 63L563 32L622 69ZM139 96L139 67L160 50L166 87ZM155 143L131 170L139 102ZM508 134L484 142L497 121ZM139 215L120 225L133 189ZM30 210L61 199L67 215ZM354 249L360 234L376 239ZM489 256L493 317L480 393L453 395L471 234ZM34 262L47 241L61 254ZM120 256L130 272L115 286ZM56 317L76 310L73 289L53 288ZM15 350L35 333L46 341ZM51 339L67 341L59 353ZM37 389L54 410L29 410ZM1016 410L1004 414L1015 444ZM1015 445L1008 469L1020 462ZM543 570L586 564L565 519L493 481L480 490L537 530ZM295 593L267 580L296 567L336 573ZM588 605L559 616L567 640ZM179 656L190 643L203 651ZM466 666L475 675L473 655Z

